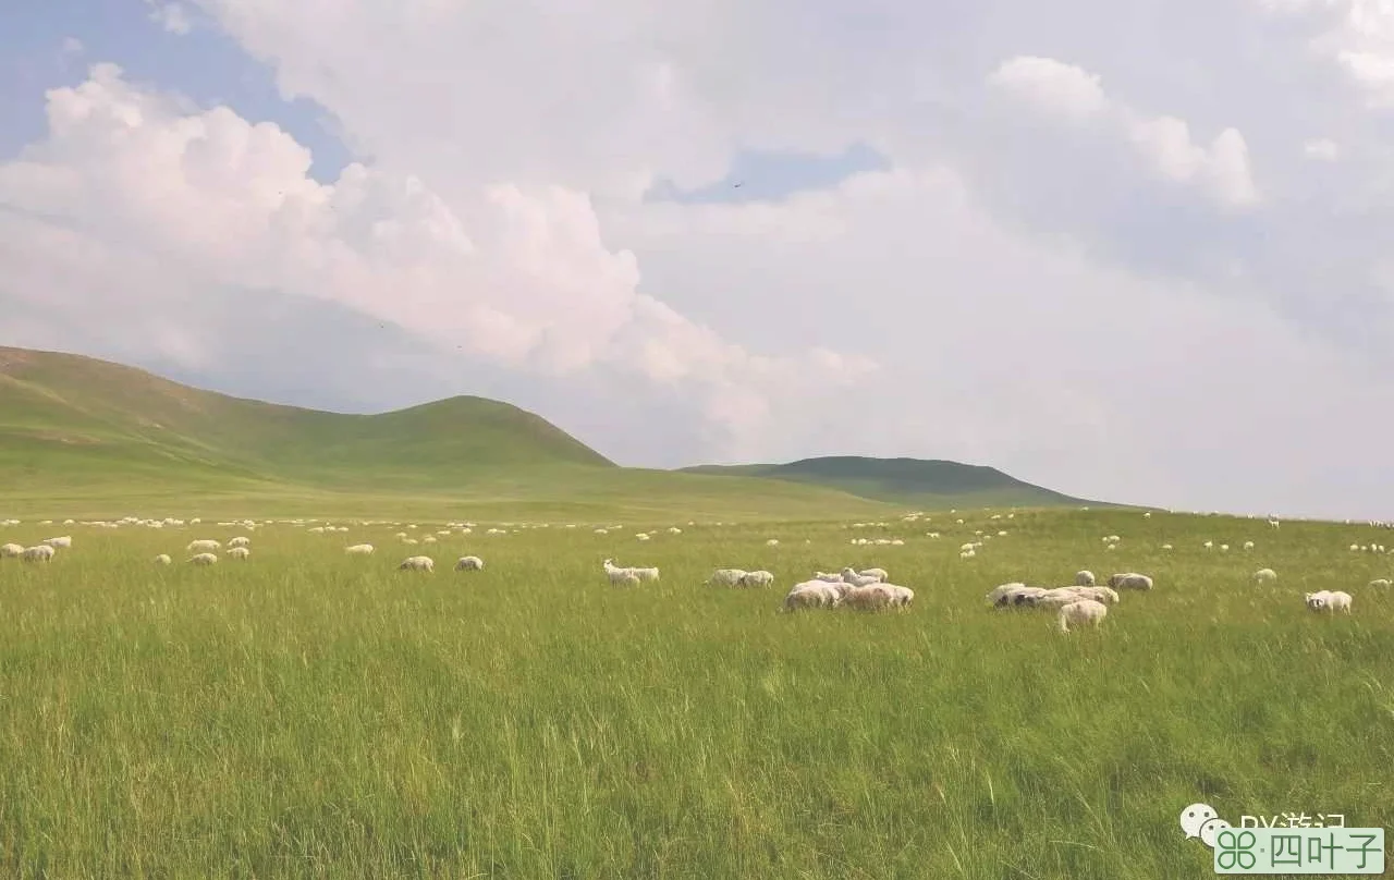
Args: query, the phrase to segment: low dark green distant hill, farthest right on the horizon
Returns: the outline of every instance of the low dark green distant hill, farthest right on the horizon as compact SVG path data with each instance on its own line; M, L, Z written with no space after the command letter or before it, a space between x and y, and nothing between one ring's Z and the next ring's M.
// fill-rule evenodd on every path
M828 456L788 464L698 464L682 470L693 474L788 480L924 508L1112 506L1033 485L995 467L942 460Z

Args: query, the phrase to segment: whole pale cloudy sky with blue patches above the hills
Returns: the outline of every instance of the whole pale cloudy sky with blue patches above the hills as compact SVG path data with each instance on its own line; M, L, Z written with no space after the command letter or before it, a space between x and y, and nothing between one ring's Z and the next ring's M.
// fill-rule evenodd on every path
M1394 519L1391 0L47 0L0 344Z

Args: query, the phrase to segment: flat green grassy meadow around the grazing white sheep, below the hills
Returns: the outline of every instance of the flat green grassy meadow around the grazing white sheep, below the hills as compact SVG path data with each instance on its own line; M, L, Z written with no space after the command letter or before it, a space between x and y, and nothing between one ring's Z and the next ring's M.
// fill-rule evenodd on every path
M1157 880L1213 876L1177 821L1197 801L1394 824L1394 595L1366 587L1394 559L1348 549L1394 533L999 515L671 516L647 543L475 520L429 547L347 520L0 527L74 538L0 559L0 876ZM1008 534L959 559L977 530ZM245 563L151 563L234 534ZM436 572L395 570L414 552ZM466 552L487 569L452 572ZM605 556L662 580L612 589ZM776 611L842 565L914 607ZM715 566L778 582L703 587ZM1079 568L1157 587L1068 636L983 605ZM1355 614L1308 612L1324 587Z

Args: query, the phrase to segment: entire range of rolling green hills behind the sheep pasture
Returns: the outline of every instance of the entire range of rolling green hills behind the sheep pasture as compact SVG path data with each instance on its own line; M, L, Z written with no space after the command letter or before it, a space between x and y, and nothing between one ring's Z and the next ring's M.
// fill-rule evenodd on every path
M371 416L190 388L91 357L0 347L0 481L13 503L222 509L528 510L535 517L718 513L815 519L829 505L1062 505L990 467L913 459L620 467L545 418L459 396ZM100 508L96 505L100 503ZM67 508L71 509L71 508ZM347 515L347 513L346 513ZM482 516L482 513L477 513Z

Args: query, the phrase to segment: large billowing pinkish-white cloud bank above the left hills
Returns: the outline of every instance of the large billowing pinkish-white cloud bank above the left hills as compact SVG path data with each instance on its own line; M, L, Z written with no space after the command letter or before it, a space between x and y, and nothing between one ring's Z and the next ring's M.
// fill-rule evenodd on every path
M583 194L495 184L446 204L414 176L354 163L319 184L309 163L276 126L184 112L95 66L49 93L49 138L0 166L8 259L46 273L13 275L13 296L84 324L142 314L146 344L205 368L195 291L273 290L496 368L560 378L604 365L693 395L732 432L764 425L771 395L875 368L817 346L797 364L764 357L640 293L633 254L605 248ZM112 278L121 290L103 289Z

